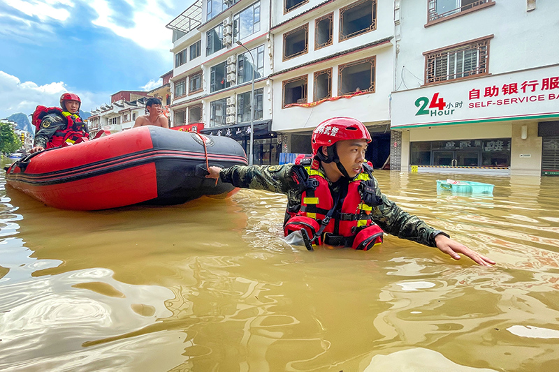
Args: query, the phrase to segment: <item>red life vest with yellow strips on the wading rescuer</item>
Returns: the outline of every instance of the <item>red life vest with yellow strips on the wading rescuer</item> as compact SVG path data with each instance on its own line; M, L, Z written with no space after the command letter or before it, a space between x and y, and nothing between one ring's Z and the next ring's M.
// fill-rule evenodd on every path
M295 161L296 165L302 162L308 164L309 158L299 157ZM335 206L335 200L328 186L326 175L319 170L319 162L313 159L312 165L305 166L305 170L309 176L307 184L313 184L313 186L307 187L303 191L298 210L288 205L286 221L284 223L284 233L286 236L290 232L301 230L301 228L308 230L311 236L316 234L319 232L319 226L326 218L328 212ZM333 213L331 212L328 225L326 225L320 236L317 237L317 245L324 242L324 244L333 246L353 246L353 248L367 250L373 245L382 242L382 230L377 225L374 225L370 218L372 207L361 201L361 194L358 192L358 186L361 184L361 181L372 179L371 170L372 165L365 163L363 165L363 172L347 184L347 192L340 191L341 194L338 197L340 201L337 202L336 210ZM342 203L341 207L339 206L340 202ZM374 225L374 229L368 229L368 232L361 234L361 236L365 235L365 239L368 237L372 238L372 235L378 236L375 236L374 239L372 238L374 240L372 241L373 244L360 248L361 241L354 241L356 235L371 225ZM307 229L307 227L310 228Z

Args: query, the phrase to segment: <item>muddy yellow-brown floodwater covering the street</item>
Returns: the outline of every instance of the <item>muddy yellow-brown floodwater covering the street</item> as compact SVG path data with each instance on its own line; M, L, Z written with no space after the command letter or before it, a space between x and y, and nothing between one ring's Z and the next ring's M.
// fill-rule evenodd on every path
M375 176L498 264L289 246L284 195L62 211L1 171L0 370L559 371L559 179Z

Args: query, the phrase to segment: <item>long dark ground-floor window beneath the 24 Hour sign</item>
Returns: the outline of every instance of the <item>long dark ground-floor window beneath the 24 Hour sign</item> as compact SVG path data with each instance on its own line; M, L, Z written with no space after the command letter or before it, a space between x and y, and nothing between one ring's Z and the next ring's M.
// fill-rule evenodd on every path
M458 167L508 167L511 139L412 142L410 165Z

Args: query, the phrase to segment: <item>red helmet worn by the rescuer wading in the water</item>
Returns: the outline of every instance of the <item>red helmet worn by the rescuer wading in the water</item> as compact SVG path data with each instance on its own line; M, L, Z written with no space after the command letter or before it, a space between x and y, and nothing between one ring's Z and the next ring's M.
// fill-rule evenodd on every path
M371 135L365 124L351 117L333 117L322 121L312 131L312 154L317 155L323 146L330 147L337 141L367 140L371 142Z

